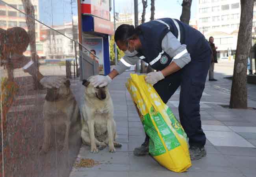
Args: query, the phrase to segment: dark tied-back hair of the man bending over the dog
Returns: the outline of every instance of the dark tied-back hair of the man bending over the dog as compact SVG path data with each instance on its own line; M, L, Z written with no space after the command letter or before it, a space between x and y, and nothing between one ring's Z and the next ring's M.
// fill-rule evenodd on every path
M133 25L122 24L115 31L115 42L127 43L130 39L136 39L139 33L141 33L139 26L134 28Z

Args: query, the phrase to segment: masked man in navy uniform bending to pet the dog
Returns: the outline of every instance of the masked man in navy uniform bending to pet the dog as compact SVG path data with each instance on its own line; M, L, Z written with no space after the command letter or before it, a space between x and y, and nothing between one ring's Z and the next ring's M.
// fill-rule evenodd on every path
M180 86L180 122L189 137L191 160L206 155L206 136L201 128L200 99L211 63L211 48L199 31L172 18L161 18L137 28L123 24L115 31L115 42L125 52L108 76L95 76L93 85L104 87L114 77L142 59L157 72L145 77L153 84L164 103ZM148 153L149 137L135 155Z

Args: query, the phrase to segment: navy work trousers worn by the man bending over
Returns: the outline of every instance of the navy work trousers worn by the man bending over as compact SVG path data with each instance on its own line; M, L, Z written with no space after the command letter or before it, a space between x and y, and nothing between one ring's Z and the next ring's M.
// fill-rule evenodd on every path
M191 62L178 72L171 74L154 85L164 103L180 86L180 123L189 137L189 145L202 147L206 136L201 127L200 99L211 63L211 50L205 43L199 55L191 56ZM146 135L145 142L149 141Z

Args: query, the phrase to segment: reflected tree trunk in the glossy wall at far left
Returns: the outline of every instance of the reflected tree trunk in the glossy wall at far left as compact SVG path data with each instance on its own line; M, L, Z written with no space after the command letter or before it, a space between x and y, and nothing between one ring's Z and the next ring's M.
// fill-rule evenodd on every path
M35 20L30 18L35 18L35 9L33 4L31 3L31 0L22 0L22 4L24 7L24 11L27 14L26 15L26 24L28 26L28 36L30 39L30 52L31 52L31 59L37 64L37 67L39 67L38 64L38 57L36 57L36 46L35 46ZM28 15L30 17L28 17ZM39 81L37 80L37 76L32 76L34 80L34 88L35 89L43 89L43 86Z

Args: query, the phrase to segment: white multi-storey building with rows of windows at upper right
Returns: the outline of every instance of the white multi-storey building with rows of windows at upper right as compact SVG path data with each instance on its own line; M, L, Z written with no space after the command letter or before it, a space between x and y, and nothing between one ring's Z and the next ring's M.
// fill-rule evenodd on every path
M210 36L214 37L219 57L232 55L237 46L241 16L240 0L198 0L197 7L198 30L206 39ZM252 32L255 27L256 7L254 7Z

